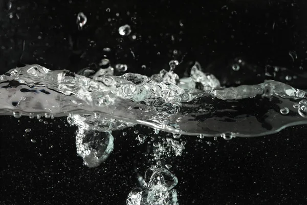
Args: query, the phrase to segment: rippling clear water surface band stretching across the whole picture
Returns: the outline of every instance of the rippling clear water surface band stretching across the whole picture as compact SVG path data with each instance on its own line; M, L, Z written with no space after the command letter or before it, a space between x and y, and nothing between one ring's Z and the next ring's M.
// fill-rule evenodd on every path
M199 65L192 71L179 79L173 71L114 76L108 68L85 77L28 65L0 76L0 114L69 116L71 124L101 132L141 124L202 136L263 136L307 124L302 90L274 80L221 88Z

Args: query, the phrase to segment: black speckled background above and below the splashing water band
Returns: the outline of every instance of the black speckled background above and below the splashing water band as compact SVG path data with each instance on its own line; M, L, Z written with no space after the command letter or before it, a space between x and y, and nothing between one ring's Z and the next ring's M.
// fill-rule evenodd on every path
M108 58L113 66L127 64L127 72L146 75L168 69L169 60L177 59L183 61L180 74L189 61L198 60L226 86L272 78L307 88L304 1L44 0L12 1L10 10L7 4L0 1L1 73L21 64L77 72ZM82 30L76 25L79 12L87 16ZM118 33L124 24L131 27L129 36ZM235 72L237 59L246 64ZM272 66L287 70L268 77ZM113 132L113 154L89 169L76 155L76 128L64 118L49 124L27 117L0 120L0 204L125 204L138 186L137 175L150 165L146 145L137 146L134 134L137 129L153 136L145 127L127 129L126 136ZM179 203L306 204L306 130L297 126L230 141L184 136L186 153L168 159L179 179Z

